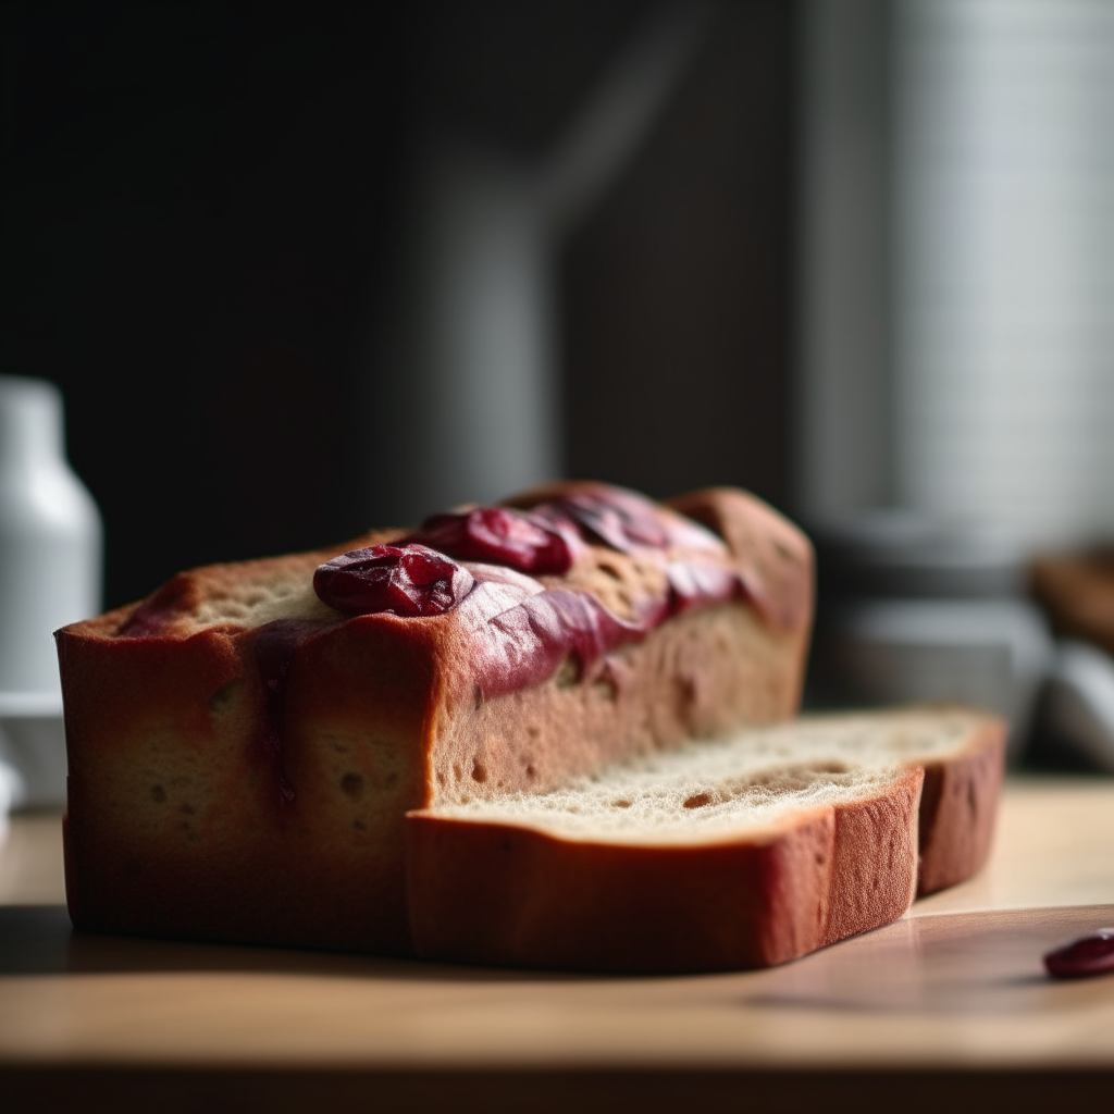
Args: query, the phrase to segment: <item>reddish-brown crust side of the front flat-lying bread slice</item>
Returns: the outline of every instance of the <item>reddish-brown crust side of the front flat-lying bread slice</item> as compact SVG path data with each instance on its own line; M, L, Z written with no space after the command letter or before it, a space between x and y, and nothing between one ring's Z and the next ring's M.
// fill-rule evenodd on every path
M407 818L417 950L607 971L768 967L900 917L913 897L921 771L762 837L703 846L561 839Z

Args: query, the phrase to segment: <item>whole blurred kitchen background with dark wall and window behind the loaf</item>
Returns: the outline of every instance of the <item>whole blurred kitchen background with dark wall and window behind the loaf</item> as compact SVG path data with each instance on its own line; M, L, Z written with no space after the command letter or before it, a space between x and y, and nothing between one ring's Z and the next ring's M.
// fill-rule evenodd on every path
M0 370L61 391L106 606L553 476L735 483L818 541L814 702L1114 768L1114 4L0 13Z

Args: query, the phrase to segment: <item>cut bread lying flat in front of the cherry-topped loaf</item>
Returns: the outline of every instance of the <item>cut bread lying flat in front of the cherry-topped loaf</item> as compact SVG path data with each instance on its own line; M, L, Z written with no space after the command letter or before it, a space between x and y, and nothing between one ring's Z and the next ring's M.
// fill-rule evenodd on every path
M797 958L900 917L918 861L921 892L981 866L1004 737L958 709L818 716L413 811L418 954L605 971Z

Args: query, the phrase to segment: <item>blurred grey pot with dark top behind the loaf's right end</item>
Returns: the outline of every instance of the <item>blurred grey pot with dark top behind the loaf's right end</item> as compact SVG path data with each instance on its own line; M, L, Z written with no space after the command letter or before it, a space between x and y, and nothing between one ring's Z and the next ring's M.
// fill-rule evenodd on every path
M815 695L986 707L1009 721L1016 759L1054 656L1043 614L1023 595L1016 540L908 511L848 518L814 535Z

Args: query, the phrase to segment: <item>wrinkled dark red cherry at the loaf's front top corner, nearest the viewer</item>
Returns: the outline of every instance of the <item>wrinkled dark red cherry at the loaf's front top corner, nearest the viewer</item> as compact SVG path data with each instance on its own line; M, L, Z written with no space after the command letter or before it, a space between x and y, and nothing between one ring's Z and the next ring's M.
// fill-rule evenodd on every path
M313 574L317 596L351 615L443 615L468 595L472 584L468 569L413 543L353 549Z

